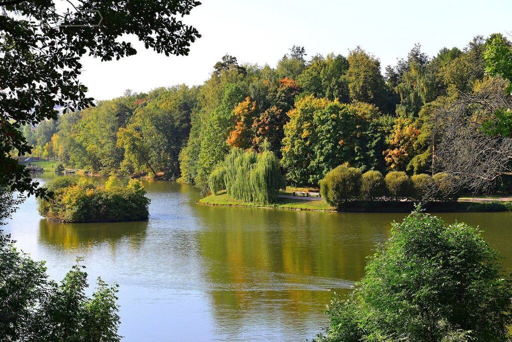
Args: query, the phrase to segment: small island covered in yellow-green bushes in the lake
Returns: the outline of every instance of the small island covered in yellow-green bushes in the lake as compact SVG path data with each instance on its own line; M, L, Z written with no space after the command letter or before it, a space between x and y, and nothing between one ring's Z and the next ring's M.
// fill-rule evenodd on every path
M147 220L150 199L142 182L111 176L104 186L86 177L61 176L45 185L39 213L56 222L120 222Z

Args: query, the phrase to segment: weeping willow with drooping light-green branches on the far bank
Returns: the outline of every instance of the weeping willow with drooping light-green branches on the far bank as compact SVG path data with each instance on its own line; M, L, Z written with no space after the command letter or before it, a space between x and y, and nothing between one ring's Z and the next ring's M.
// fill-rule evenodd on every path
M267 149L257 154L233 148L223 163L208 178L211 191L217 194L226 189L229 197L255 204L269 204L278 200L285 179L279 171L279 161Z

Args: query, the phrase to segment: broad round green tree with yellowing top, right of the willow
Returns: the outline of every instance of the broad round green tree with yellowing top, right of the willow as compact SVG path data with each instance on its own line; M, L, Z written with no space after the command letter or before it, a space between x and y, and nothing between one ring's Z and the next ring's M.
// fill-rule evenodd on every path
M282 164L295 184L318 184L336 165L360 168L381 164L381 114L373 105L345 104L306 96L288 112ZM377 160L380 160L377 161Z

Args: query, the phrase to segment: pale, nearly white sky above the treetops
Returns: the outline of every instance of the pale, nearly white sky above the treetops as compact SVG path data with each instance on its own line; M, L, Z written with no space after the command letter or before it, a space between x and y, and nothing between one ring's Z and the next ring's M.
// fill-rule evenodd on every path
M382 68L407 56L419 42L429 56L442 47L463 48L475 35L512 33L512 1L346 1L202 0L185 18L202 37L188 56L145 50L119 61L83 59L82 82L97 100L126 89L147 92L175 84L200 84L228 53L239 62L268 64L293 45L308 57L330 52L347 55L360 45L380 59Z

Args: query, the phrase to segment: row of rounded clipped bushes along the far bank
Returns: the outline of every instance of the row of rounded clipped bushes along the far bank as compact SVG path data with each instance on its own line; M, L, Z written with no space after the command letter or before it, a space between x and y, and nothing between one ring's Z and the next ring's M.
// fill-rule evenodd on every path
M320 182L322 197L333 206L361 199L441 200L458 198L455 179L446 174L425 174L409 177L404 172L390 172L384 177L378 171L361 173L358 168L340 165L331 170Z

